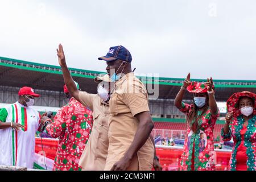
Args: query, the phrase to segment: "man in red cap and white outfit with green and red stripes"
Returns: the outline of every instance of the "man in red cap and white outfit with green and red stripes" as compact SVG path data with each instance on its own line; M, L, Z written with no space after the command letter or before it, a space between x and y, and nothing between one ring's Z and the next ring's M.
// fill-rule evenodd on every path
M17 102L0 110L0 165L33 168L35 133L41 125L31 106L40 95L26 86L18 95Z

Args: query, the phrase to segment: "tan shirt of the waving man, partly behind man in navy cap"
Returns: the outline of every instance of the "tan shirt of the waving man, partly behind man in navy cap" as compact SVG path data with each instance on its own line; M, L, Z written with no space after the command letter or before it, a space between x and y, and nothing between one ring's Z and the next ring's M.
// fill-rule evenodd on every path
M102 101L97 94L86 92L79 92L79 100L93 111L92 133L84 152L82 152L79 165L86 171L102 171L105 167L109 147L109 104Z

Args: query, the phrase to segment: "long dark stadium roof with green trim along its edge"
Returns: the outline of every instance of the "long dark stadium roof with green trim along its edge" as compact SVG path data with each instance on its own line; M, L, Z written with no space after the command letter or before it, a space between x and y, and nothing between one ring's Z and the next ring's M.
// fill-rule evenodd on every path
M89 71L83 69L69 68L71 75L79 82L81 89L89 93L97 93L97 84L93 78L105 74L105 72ZM28 61L0 57L0 85L22 87L31 86L34 89L63 91L63 76L60 67L55 65L32 63ZM166 78L166 77L143 77L140 80L152 86L159 86L159 98L173 99L184 78ZM201 79L192 79L192 81L206 81ZM214 80L216 88L216 100L225 101L234 92L247 90L256 91L256 80ZM191 95L186 94L185 99L190 99Z

